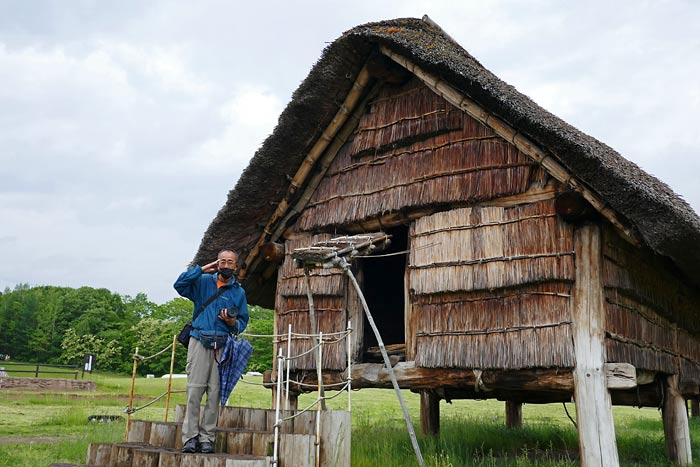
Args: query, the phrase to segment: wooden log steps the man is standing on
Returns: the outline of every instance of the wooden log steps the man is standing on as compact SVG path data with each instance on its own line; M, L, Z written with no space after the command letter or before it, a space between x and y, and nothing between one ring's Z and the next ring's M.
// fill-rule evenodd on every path
M320 416L318 452L321 466L350 465L350 413L283 411L296 415L280 425L279 464L276 467L314 467L316 464L316 417ZM184 454L182 420L184 407L176 408L176 422L132 420L127 442L94 443L86 464L116 467L268 467L272 466L275 411L222 407L216 431L216 454Z

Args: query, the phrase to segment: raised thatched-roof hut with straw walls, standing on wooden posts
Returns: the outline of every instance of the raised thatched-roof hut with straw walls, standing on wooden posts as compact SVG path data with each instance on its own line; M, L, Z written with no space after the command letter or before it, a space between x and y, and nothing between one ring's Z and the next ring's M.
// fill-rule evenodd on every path
M582 463L616 465L611 405L661 405L669 455L689 461L700 219L427 18L358 26L326 48L194 262L239 250L249 302L275 307L278 334L349 321L351 350L328 346L324 371L341 378L354 361L354 388L386 387L348 278L307 278L291 256L367 233L390 235L391 255L358 259L354 272L399 384L421 392L425 431L440 399L574 397ZM297 381L315 378L311 355L291 366Z

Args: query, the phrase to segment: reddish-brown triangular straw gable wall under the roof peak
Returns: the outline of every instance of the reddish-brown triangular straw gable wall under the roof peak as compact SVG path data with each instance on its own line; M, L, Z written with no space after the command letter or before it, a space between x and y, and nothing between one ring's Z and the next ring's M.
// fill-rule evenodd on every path
M371 101L297 228L522 193L544 177L513 145L413 80L384 86Z

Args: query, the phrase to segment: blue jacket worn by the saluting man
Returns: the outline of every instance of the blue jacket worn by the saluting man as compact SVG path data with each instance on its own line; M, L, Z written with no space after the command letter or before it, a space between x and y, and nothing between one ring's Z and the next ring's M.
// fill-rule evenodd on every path
M195 266L180 274L174 287L177 293L194 302L194 310L192 310L194 315L200 306L216 294L216 275L202 274L202 267ZM207 305L192 323L191 335L195 339L200 338L200 331L224 336L231 333L239 334L248 325L248 300L241 284L234 278L223 288L226 290ZM218 315L223 308L230 310L234 306L238 308L238 319L235 326L229 327L226 322L218 318Z

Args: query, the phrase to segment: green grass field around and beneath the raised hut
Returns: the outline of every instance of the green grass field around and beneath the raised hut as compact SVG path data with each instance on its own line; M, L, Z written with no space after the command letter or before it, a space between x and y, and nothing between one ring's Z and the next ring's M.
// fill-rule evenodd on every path
M87 378L87 375L86 375ZM51 462L84 463L91 442L120 442L124 423L88 423L90 415L122 415L128 404L131 378L95 373L97 391L36 393L0 390L0 467L45 466ZM269 407L271 392L260 377L239 383L229 405ZM135 406L148 403L167 389L167 379L136 380ZM184 390L185 379L174 379L173 390ZM332 394L332 393L331 393ZM299 407L314 400L300 397ZM418 430L419 397L404 391ZM184 394L171 398L169 420ZM329 401L330 408L347 408L347 394ZM575 407L567 404L575 417ZM419 435L428 466L575 466L576 430L562 404L525 405L523 428L504 427L504 404L498 401L454 401L440 404L441 434ZM391 390L363 389L352 393L353 466L417 465L401 408ZM135 419L163 420L165 398L138 411ZM661 413L656 409L615 407L615 430L624 466L667 466ZM692 448L700 465L700 420L691 420ZM33 441L33 442L28 442Z

